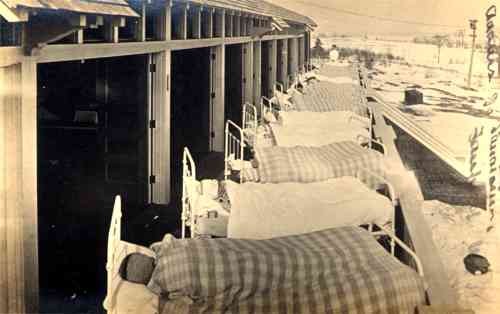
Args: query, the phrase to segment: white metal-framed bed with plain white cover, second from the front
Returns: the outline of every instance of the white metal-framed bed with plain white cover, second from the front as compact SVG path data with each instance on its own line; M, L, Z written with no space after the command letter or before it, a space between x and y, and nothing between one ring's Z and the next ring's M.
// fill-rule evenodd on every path
M272 238L345 225L392 225L396 193L365 169L308 183L197 180L189 149L183 153L182 237ZM225 229L227 226L227 229ZM391 243L391 251L394 243Z

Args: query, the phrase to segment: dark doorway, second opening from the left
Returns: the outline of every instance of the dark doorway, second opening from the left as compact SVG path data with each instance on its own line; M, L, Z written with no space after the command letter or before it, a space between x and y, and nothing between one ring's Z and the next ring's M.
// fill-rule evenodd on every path
M172 52L172 197L181 194L182 151L210 151L210 48Z

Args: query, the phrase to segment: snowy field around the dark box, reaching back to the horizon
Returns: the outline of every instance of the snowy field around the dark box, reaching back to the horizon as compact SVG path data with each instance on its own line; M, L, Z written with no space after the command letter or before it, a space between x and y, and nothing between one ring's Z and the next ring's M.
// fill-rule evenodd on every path
M470 155L469 135L475 127L492 126L500 122L500 99L496 111L488 114L483 104L495 92L500 81L488 82L486 57L476 51L472 89L467 88L470 49L441 48L440 63L435 45L412 42L364 40L361 38L326 38L325 47L366 49L403 57L403 62L376 64L371 71L371 87L387 103L393 104L412 118L424 130L441 140L459 160ZM404 106L404 91L416 88L424 95L424 103ZM500 98L500 97L499 97Z

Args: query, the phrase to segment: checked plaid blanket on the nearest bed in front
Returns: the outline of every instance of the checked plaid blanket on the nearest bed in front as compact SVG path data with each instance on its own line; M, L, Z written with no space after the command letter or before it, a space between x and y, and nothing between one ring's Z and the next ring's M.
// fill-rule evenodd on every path
M413 313L425 302L419 275L359 227L157 250L149 288L168 299L163 313Z

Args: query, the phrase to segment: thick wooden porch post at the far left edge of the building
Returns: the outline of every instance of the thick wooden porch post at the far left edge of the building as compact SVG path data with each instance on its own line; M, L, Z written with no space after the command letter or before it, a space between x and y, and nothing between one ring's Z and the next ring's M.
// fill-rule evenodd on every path
M36 62L0 68L0 313L38 312Z

